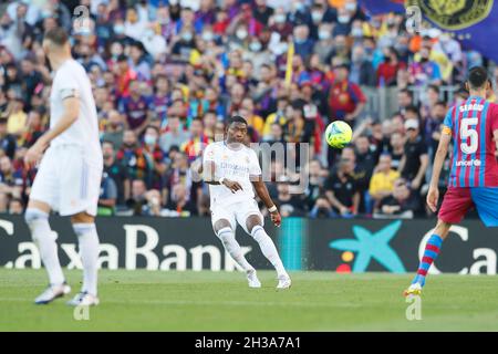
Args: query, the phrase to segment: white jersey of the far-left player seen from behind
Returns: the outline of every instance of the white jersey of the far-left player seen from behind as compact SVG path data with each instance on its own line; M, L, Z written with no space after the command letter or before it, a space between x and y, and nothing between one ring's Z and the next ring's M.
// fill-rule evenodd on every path
M84 67L73 59L65 61L55 72L50 93L50 128L58 124L64 113L64 98L71 96L80 98L80 115L51 142L51 146L82 146L86 158L98 163L102 160L102 149L92 85Z

